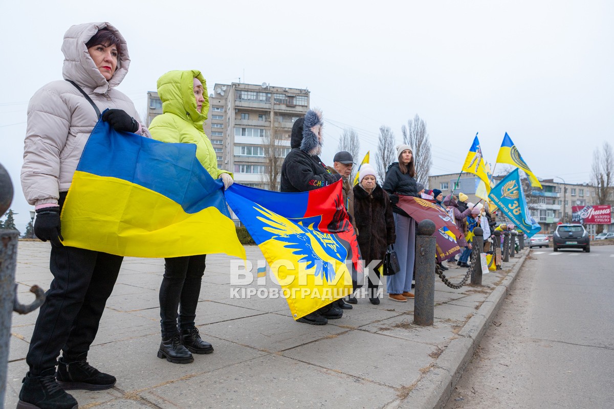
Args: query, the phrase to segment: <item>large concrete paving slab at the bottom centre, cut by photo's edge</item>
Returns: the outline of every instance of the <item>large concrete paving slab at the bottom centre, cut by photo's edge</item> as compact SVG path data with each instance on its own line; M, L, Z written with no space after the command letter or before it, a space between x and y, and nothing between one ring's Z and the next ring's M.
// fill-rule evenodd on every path
M164 409L377 408L394 395L392 388L277 355L139 392Z

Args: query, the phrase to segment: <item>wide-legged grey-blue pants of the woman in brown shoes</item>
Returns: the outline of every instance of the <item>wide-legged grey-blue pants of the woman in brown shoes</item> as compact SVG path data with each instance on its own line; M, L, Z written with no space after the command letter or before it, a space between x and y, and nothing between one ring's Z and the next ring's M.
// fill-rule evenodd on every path
M416 222L411 217L394 213L394 227L397 232L394 250L397 252L401 269L398 273L386 277L386 286L388 294L402 294L411 292L416 256Z

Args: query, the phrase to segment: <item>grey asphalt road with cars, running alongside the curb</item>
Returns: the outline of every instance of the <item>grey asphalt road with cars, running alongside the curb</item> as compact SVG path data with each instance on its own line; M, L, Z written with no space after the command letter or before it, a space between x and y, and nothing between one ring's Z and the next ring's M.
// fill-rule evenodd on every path
M614 407L614 246L535 248L446 409Z

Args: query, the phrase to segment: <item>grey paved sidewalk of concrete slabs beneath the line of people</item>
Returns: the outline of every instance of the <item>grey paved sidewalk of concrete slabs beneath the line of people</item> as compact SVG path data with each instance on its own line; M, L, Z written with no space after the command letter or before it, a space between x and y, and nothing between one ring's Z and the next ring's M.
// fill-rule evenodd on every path
M262 253L246 247L257 266ZM22 303L29 286L49 288L50 245L20 242L16 280ZM79 408L432 408L449 396L507 294L528 250L484 275L483 286L435 285L435 324L413 324L413 300L360 299L326 326L296 323L286 300L231 298L230 264L208 256L196 326L214 345L191 364L156 356L160 344L161 259L126 258L107 302L88 361L117 377L101 392L70 391ZM466 269L448 270L457 275ZM270 277L266 287L271 288ZM244 288L260 288L254 284ZM385 288L385 285L384 285ZM235 292L236 294L237 292ZM239 292L241 294L241 292ZM15 408L37 312L13 315L6 408ZM447 394L447 395L446 395Z

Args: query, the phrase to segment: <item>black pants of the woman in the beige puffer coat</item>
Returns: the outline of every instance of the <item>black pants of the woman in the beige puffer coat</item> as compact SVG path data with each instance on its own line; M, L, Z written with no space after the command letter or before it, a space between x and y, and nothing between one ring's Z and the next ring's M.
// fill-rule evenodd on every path
M87 353L117 280L122 256L52 244L53 274L26 356L34 376L64 356Z

